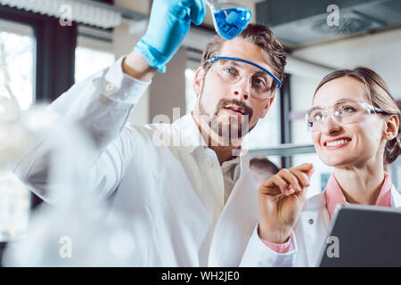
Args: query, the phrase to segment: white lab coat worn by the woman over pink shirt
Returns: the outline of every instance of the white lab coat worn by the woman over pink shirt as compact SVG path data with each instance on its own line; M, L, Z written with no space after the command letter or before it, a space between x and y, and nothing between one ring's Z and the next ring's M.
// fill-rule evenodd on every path
M401 195L394 185L391 188L391 207L401 207ZM254 234L250 247L242 259L243 266L316 266L330 224L329 211L326 207L324 192L305 202L299 220L291 232L295 248L288 253L276 253L258 239ZM255 246L258 244L258 247ZM250 259L249 259L250 257ZM263 260L263 263L255 263Z

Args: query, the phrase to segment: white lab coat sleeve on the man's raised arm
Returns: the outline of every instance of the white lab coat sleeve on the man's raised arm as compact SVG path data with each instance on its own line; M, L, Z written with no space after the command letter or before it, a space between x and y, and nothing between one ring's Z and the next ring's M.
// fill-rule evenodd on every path
M119 59L109 68L88 77L61 94L49 108L62 120L78 123L94 142L93 167L87 176L99 198L114 191L124 175L134 148L134 126L127 118L151 82L127 76ZM41 199L48 195L49 161L45 143L30 151L14 170Z

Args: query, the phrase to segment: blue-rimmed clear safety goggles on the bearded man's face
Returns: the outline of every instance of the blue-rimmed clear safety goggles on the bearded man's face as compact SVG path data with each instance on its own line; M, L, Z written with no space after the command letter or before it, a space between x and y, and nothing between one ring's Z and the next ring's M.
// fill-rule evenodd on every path
M249 77L250 96L258 99L265 100L274 97L274 92L282 86L282 82L272 72L252 61L216 56L206 61L206 63L209 62L213 64L211 67L213 74L226 83L236 84L243 77ZM252 68L250 69L249 66L252 66ZM252 70L252 72L245 72L245 67L247 70Z

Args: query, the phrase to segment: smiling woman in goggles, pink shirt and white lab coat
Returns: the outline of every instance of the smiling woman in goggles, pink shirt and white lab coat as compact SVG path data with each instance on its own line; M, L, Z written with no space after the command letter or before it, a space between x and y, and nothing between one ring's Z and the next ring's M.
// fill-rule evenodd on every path
M384 167L400 154L397 103L371 69L334 71L318 85L307 112L315 150L334 171L325 190L306 200L313 165L282 169L258 189L259 238L276 266L314 266L335 206L400 207Z

